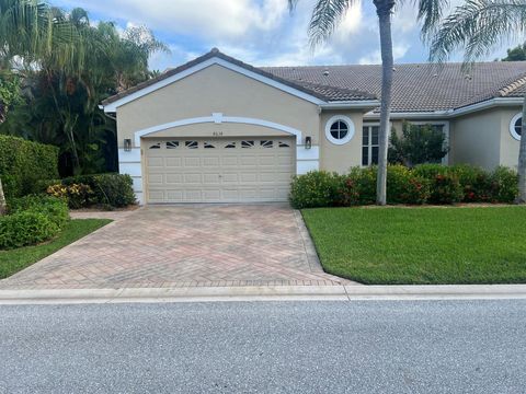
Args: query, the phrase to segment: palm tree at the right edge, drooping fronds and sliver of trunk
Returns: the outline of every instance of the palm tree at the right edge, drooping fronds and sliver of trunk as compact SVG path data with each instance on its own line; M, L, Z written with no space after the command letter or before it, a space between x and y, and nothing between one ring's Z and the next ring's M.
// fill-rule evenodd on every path
M464 49L464 67L490 55L499 44L526 36L524 0L468 0L457 7L431 39L431 60L445 61L456 49ZM526 95L523 102L522 130L526 130ZM524 132L524 131L523 131ZM518 153L517 202L526 202L526 138L521 138Z

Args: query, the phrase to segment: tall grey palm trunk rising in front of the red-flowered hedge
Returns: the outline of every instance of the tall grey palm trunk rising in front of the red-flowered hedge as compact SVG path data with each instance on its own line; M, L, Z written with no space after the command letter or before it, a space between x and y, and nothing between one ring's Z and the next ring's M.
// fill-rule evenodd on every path
M381 104L380 104L380 130L378 148L378 175L376 184L376 204L384 206L387 202L387 148L389 143L389 120L391 112L392 90L392 38L391 38L391 12L395 7L393 0L374 0L380 28L381 51Z

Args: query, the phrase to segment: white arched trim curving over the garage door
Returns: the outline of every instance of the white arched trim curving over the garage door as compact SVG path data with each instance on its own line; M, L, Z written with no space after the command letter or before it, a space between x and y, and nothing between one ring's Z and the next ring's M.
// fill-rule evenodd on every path
M203 124L203 123L217 123L218 117L217 115L215 116L203 116L203 117L196 117L196 118L187 118L187 119L181 119L181 120L175 120L175 121L170 121L168 124L163 125L157 125L152 127L148 127L146 129L139 130L135 132L135 146L140 147L140 138L146 137L148 135L162 131L169 128L173 127L180 127L180 126L186 126L186 125L195 125L195 124ZM287 134L290 134L293 136L296 136L296 143L301 144L301 131L297 130L295 128L279 125L273 121L268 120L263 120L263 119L256 119L256 118L248 118L248 117L241 117L241 116L222 116L220 118L220 123L235 123L235 124L245 124L245 125L255 125L255 126L263 126L263 127L268 127L272 129L285 131Z

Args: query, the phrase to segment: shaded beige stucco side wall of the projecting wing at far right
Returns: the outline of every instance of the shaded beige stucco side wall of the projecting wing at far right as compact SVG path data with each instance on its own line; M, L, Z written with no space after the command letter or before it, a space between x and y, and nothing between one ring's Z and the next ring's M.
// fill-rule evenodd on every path
M480 111L450 120L450 164L492 170L500 164L502 112Z

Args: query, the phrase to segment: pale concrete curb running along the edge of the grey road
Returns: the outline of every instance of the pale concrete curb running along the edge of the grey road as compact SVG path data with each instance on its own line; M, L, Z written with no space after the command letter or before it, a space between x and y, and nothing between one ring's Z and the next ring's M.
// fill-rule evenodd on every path
M0 305L46 303L476 299L526 299L526 285L265 286L0 290Z

